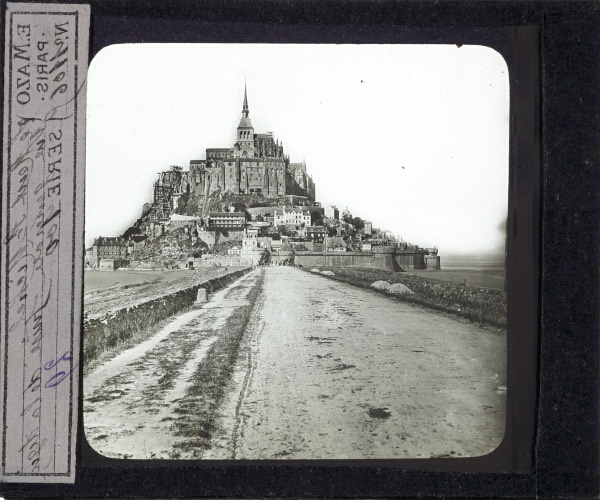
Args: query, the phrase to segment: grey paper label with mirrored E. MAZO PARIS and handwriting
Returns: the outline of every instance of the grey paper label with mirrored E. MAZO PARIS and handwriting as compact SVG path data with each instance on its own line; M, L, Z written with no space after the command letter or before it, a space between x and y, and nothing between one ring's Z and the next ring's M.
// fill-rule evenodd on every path
M75 478L88 34L87 5L7 4L3 481Z

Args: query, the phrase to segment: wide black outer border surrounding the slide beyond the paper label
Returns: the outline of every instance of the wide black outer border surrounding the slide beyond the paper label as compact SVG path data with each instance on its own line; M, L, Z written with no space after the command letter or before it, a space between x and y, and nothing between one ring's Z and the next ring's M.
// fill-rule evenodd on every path
M63 2L61 2L63 3ZM66 2L65 2L66 3ZM78 2L71 2L78 3ZM80 2L82 3L82 2ZM1 0L2 13L5 0ZM300 43L306 33L313 41L331 43L398 43L408 36L442 43L441 33L471 33L462 43L482 43L501 28L521 37L522 49L512 57L540 70L533 85L539 101L511 100L511 197L513 189L528 189L527 200L517 202L509 217L512 233L530 238L535 254L510 252L507 275L525 274L540 291L539 313L523 318L540 326L538 338L526 339L539 355L536 373L522 351L514 354L533 375L537 392L535 457L529 472L448 472L402 470L388 467L319 466L144 466L107 467L78 460L75 485L3 484L5 496L19 497L595 497L599 493L599 330L598 292L598 165L600 155L600 41L599 7L592 2L392 2L314 0L246 2L158 0L91 2L90 52L101 45L102 22L113 24L112 43L132 41L213 41ZM2 16L4 18L4 16ZM160 21L160 26L153 23ZM194 21L190 21L190 20ZM4 19L2 20L2 23ZM203 36L191 24L200 24ZM176 28L177 27L177 28ZM537 41L523 42L522 30L533 29ZM435 29L431 29L435 28ZM153 39L140 38L152 30ZM4 26L2 26L2 37ZM470 37L470 38L469 38ZM110 38L110 37L109 37ZM447 40L447 38L445 38ZM416 42L413 42L416 43ZM513 45L514 48L514 45ZM505 58L506 53L503 53ZM2 58L4 56L2 55ZM510 56L509 56L510 57ZM91 60L91 58L90 58ZM508 61L507 61L508 62ZM510 64L509 64L510 67ZM511 96L512 98L512 96ZM516 105L513 108L513 104ZM518 119L513 121L515 113ZM523 135L524 128L539 127L538 142ZM514 133L514 138L512 137ZM534 134L535 135L535 134ZM539 142L541 139L541 143ZM523 151L528 154L521 154ZM513 153L517 157L513 158ZM535 157L542 159L536 178ZM518 168L515 170L515 165ZM519 175L513 174L518 172ZM529 174L528 174L529 172ZM529 187L525 184L529 182ZM525 183L525 184L524 184ZM539 200L535 200L536 190ZM511 198L512 199L512 198ZM541 205L540 205L541 203ZM510 211L510 208L509 208ZM524 212L533 218L520 224ZM537 215L536 215L537 211ZM512 221L512 223L511 223ZM516 222L516 224L515 224ZM512 224L512 225L511 225ZM536 230L541 239L537 238ZM531 232L529 232L531 231ZM514 247L513 247L514 248ZM535 257L531 261L532 255ZM512 269L512 270L511 270ZM539 272L541 280L535 280ZM510 278L509 278L510 280ZM509 284L510 287L510 284ZM509 288L510 291L510 288ZM530 294L516 290L524 307ZM529 306L530 307L530 306ZM513 309L510 309L511 311ZM509 312L509 316L512 312ZM511 319L509 318L509 321ZM509 324L510 328L510 324ZM509 345L509 351L514 351ZM531 350L528 351L531 355ZM523 357L524 356L524 357ZM509 358L510 367L510 358ZM510 368L509 368L510 370ZM514 373L514 372L513 372ZM511 372L509 371L509 377ZM518 387L522 380L509 381ZM535 398L537 394L537 401ZM522 400L522 402L525 399ZM527 404L525 402L525 404ZM509 412L519 411L518 405ZM525 415L525 418L534 418ZM81 436L81 423L79 429ZM517 446L527 446L522 442ZM81 444L78 458L85 452Z

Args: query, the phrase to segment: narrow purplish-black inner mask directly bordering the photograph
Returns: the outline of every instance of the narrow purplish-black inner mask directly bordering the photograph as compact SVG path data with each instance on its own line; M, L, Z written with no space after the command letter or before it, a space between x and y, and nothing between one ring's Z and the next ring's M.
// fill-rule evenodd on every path
M201 29L195 21L164 19L122 19L98 16L95 19L95 37L92 53L115 43L130 43L144 40L173 42L180 41L174 36L181 31L188 34L187 41L207 41L221 34L220 23L202 23ZM124 29L124 28L127 29ZM262 25L260 38L255 34L253 25L243 35L247 43L273 42L289 43L290 35L280 27ZM289 29L289 26L285 26ZM314 40L313 28L294 27L292 40L309 43ZM519 35L518 39L515 34ZM329 32L328 43L363 43L364 31L360 28L346 27L343 36L339 32ZM537 342L537 296L538 262L537 228L539 217L539 138L536 142L535 115L536 87L539 85L537 51L538 30L535 27L490 28L486 30L425 29L419 33L413 30L391 28L386 32L378 30L369 34L370 43L428 43L435 37L436 43L475 44L496 49L505 59L509 68L511 124L510 124L510 179L508 203L507 246L509 259L507 283L509 300L508 317L508 405L506 435L492 454L486 457L461 458L452 460L352 460L352 461L245 461L252 466L348 465L358 467L402 467L406 469L461 470L461 471L506 471L525 472L532 467L533 428L536 399L536 342ZM322 38L321 38L322 39ZM530 64L533 62L534 64ZM517 228L519 228L517 230ZM533 239L532 239L533 237ZM519 256L511 258L510 256ZM526 383L525 383L526 381ZM98 465L122 465L119 460L109 460L96 454L85 439L81 441L83 457L86 463ZM515 445L516 444L516 445ZM89 460L89 462L88 462ZM129 461L136 465L148 465L158 461ZM167 464L168 462L164 462ZM208 461L181 462L195 466L223 465ZM227 463L228 466L240 462Z

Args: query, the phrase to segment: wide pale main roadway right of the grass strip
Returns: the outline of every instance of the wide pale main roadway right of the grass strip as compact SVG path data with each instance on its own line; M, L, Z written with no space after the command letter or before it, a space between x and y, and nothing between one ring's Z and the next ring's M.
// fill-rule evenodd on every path
M295 268L266 270L204 458L477 456L504 434L506 337Z

